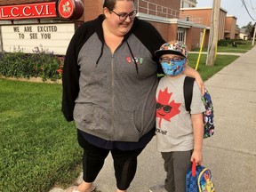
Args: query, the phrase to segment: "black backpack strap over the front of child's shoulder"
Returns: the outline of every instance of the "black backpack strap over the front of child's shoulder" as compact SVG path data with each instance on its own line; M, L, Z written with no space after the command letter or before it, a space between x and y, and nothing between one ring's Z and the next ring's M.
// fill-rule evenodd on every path
M186 107L186 110L189 112L191 110L190 105L191 105L192 96L193 96L194 81L195 81L195 78L186 76L184 80L184 85L183 85L185 107Z

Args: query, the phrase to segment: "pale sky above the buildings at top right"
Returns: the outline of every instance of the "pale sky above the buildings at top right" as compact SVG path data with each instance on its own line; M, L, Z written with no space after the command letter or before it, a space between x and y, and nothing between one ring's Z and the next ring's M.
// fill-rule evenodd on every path
M252 18L246 11L243 1ZM197 0L196 7L212 7L212 3L213 0ZM246 26L250 21L252 25L256 22L256 0L220 0L220 7L228 12L227 15L236 16L239 28Z

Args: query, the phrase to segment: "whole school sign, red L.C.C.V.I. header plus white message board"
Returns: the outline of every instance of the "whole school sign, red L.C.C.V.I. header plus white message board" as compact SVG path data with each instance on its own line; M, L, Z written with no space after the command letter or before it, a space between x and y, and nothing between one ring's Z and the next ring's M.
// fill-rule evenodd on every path
M0 20L52 18L62 21L62 23L0 26L3 51L33 53L41 50L64 55L75 33L75 23L67 23L67 20L77 20L83 14L84 4L80 0L0 6Z

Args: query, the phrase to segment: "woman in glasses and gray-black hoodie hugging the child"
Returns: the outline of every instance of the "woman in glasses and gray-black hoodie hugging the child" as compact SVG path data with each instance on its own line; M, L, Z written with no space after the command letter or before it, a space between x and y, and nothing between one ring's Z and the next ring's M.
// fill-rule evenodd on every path
M103 13L76 30L63 69L62 112L75 120L82 148L83 182L93 191L109 151L116 191L134 178L137 156L155 134L157 72L154 52L164 44L156 28L136 18L134 0L105 0ZM203 84L192 68L185 73Z

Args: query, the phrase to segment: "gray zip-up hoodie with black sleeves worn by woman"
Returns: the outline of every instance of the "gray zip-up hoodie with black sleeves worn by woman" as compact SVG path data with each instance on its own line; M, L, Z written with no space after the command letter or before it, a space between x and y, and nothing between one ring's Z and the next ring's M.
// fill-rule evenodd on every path
M164 39L135 19L112 54L104 43L104 16L76 30L63 68L62 112L68 121L104 140L138 141L155 127L160 65L154 52Z

